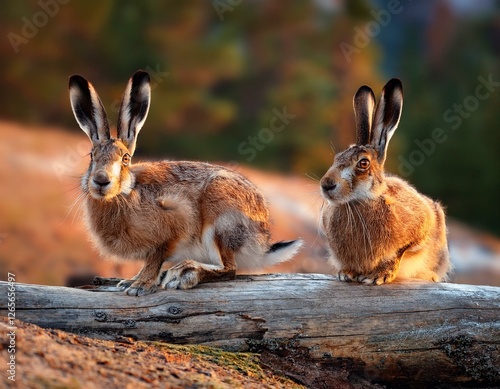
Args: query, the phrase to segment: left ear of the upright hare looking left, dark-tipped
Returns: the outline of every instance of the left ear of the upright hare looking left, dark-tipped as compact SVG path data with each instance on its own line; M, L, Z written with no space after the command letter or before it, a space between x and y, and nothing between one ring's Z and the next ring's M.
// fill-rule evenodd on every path
M375 95L371 88L363 85L354 95L354 117L356 119L356 143L359 146L370 142L373 111L375 109Z

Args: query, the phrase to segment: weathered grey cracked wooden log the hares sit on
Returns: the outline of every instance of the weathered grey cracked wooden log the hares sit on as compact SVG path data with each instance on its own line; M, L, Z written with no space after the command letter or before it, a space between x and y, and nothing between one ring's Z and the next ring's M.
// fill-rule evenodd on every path
M7 288L1 282L0 295ZM495 287L369 287L291 274L144 297L27 284L15 293L16 319L91 337L216 345L263 353L268 363L300 358L311 368L343 367L390 386L500 385ZM2 299L0 315L7 312Z

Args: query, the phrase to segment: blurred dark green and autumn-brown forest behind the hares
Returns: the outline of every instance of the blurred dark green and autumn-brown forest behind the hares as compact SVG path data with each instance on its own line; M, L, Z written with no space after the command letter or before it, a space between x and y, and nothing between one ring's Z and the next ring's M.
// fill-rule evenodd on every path
M80 134L67 82L81 74L113 122L142 68L153 92L140 158L316 179L354 141L359 86L378 96L399 77L387 170L500 235L496 1L2 1L0 35L0 120Z

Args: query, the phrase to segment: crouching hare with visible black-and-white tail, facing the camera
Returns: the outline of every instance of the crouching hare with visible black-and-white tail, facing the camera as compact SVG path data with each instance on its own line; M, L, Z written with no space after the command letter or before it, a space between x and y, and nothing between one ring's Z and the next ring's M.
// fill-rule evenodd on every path
M134 296L188 289L295 255L301 240L269 243L266 202L240 174L202 162L132 164L150 94L149 74L137 71L123 95L115 139L94 87L79 75L69 79L73 113L92 142L81 180L91 240L104 256L145 262L118 287ZM162 273L164 261L176 265Z

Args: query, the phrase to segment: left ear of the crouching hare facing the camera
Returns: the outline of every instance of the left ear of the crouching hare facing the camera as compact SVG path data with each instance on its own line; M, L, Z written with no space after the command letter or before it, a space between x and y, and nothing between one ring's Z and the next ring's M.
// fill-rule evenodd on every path
M92 84L82 76L71 76L69 99L78 125L92 143L95 145L108 140L110 138L108 118Z

